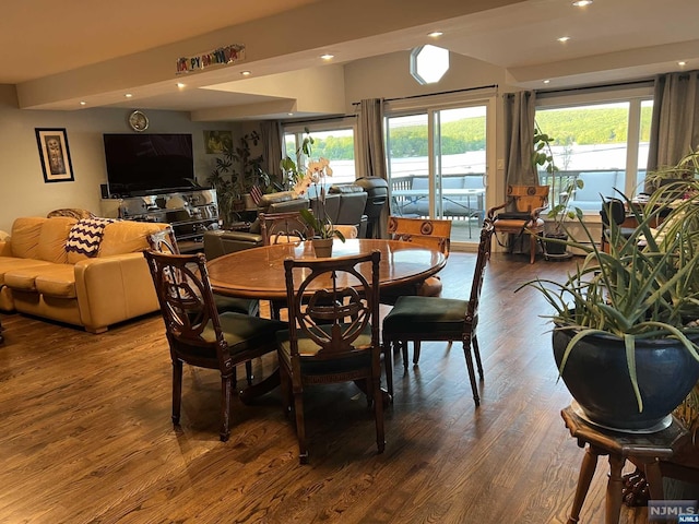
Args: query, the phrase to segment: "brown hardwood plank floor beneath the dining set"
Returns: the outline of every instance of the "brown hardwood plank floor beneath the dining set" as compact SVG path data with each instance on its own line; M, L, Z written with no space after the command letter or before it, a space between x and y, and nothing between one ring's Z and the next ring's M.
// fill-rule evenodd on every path
M452 253L445 296L467 297L474 262ZM222 443L220 379L186 367L173 428L159 314L100 335L0 314L0 523L566 523L583 450L560 417L570 396L538 317L548 309L533 289L512 290L570 267L494 254L479 408L460 344L425 343L404 377L395 357L381 455L354 384L308 394L306 466L279 390L236 400ZM273 367L260 360L254 372ZM600 461L581 522L603 522L607 471ZM645 511L623 508L621 522L645 522Z

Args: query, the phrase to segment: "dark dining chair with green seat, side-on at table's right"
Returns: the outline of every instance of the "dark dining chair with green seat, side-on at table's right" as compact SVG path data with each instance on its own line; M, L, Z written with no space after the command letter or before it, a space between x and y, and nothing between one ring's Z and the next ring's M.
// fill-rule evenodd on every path
M406 372L408 341L413 342L413 364L417 365L420 342L448 341L451 344L452 341L461 340L473 391L473 400L476 406L481 404L471 350L473 347L478 377L483 380L483 364L481 362L476 326L478 323L481 289L483 288L485 267L490 258L494 230L493 224L486 218L481 229L476 266L473 273L469 300L403 296L399 297L393 309L383 319L383 362L389 395L393 396L392 346L401 344L403 370Z

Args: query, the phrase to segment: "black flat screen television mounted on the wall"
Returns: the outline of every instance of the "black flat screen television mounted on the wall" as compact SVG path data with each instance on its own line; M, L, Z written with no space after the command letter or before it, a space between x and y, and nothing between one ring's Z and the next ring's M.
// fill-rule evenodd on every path
M109 192L135 196L196 187L191 134L105 133Z

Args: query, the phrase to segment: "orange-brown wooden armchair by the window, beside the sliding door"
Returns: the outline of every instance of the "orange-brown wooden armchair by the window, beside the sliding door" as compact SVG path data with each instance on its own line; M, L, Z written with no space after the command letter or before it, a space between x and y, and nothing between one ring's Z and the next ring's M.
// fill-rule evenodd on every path
M488 210L488 219L496 234L511 235L516 239L529 235L532 264L536 260L536 243L540 242L543 249L544 219L540 215L546 209L548 190L548 186L508 186L507 202ZM511 252L512 239L508 246Z

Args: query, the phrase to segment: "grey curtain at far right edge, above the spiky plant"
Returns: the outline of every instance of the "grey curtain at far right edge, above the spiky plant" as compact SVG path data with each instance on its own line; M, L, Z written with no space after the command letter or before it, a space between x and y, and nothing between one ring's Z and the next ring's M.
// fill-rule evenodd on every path
M648 172L674 166L699 147L698 82L699 71L655 79Z

